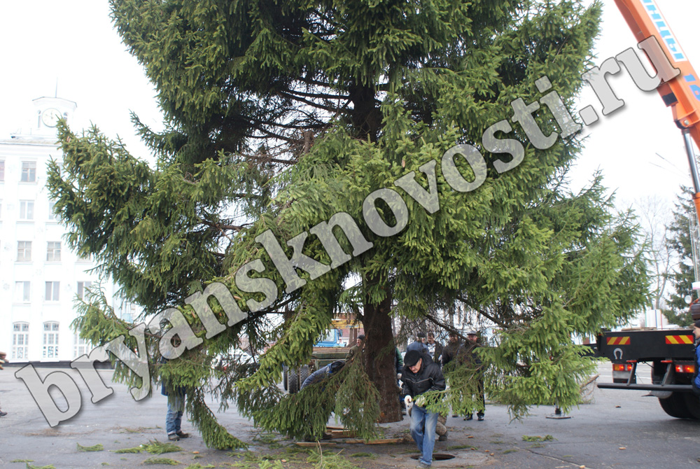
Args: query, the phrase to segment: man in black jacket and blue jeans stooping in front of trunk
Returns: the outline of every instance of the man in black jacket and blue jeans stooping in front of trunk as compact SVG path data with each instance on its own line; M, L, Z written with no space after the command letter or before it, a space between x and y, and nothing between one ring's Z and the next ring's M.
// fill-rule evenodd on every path
M426 353L411 350L403 358L401 373L402 394L408 405L414 402L411 412L411 436L421 451L418 468L429 468L433 464L433 447L435 447L436 412L428 412L423 393L444 391L444 377L440 367L433 363Z

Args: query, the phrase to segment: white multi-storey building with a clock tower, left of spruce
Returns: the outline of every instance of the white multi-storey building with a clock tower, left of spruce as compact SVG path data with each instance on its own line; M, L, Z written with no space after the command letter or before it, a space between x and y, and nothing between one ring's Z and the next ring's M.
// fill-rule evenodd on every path
M90 272L94 262L66 248L45 188L48 161L62 160L56 121L70 124L75 110L67 99L34 99L29 127L0 140L0 350L12 362L73 360L90 351L70 327L73 303L100 279ZM115 299L111 282L102 288ZM131 304L113 304L132 321Z

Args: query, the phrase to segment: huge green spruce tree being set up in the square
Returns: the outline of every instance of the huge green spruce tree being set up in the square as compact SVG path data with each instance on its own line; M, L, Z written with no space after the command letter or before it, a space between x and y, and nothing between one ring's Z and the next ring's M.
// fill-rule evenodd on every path
M419 321L456 305L500 328L499 346L479 352L491 398L516 415L528 405L577 403L577 379L592 364L571 337L624 322L641 307L645 267L633 255L631 216L615 213L597 177L581 193L568 192L566 171L581 142L557 137L570 134L561 127L572 123L558 124L547 106L528 106L541 130L531 142L514 108L552 90L572 103L591 65L599 3L111 6L119 34L158 90L167 130L134 118L158 167L97 129L78 135L60 125L64 162L52 165L49 187L71 247L97 258L147 315L179 307L204 339L160 372L191 389L188 406L208 444L237 442L205 405L211 368L202 365L243 335L256 349L270 338L275 344L255 372L226 372L214 390L225 403L234 399L261 426L300 436L320 435L335 409L370 435L376 421L401 418L392 319ZM543 76L551 89L538 81ZM521 154L508 154L518 146L512 142L502 151L482 145L500 121L496 138L517 139ZM486 163L454 163L471 190L455 190L454 172L440 164L456 145L480 151ZM430 193L420 202L405 190L407 179L396 183L407 175ZM381 189L403 202L375 201L387 227L377 234L365 198ZM330 253L332 241L314 227L337 221L358 230L335 228L342 252ZM297 256L296 269L281 272L276 245ZM266 294L236 280L254 260L248 279L269 279ZM248 317L204 337L185 299L211 281L225 283ZM128 327L100 304L85 304L77 321L94 344ZM223 316L216 301L211 308ZM314 392L281 394L282 365L307 362L338 311L363 322L366 363ZM474 370L463 368L448 370L451 388L433 399L435 408L473 408Z

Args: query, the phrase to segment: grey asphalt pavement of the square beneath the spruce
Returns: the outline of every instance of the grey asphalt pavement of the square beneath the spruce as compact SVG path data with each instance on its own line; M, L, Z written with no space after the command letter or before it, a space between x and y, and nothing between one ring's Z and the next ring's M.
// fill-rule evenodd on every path
M100 370L114 393L97 404L83 385L80 412L59 426L50 427L25 385L15 379L18 368L0 371L0 404L8 415L0 417L0 467L53 465L62 468L133 468L153 454L120 454L118 449L140 447L158 440L167 442L165 433L166 398L160 393L139 402L127 386L111 384L111 370ZM54 369L37 368L42 377ZM610 365L599 368L601 381L610 381ZM70 370L64 370L70 372ZM52 393L56 394L55 392ZM657 398L645 391L595 389L589 402L573 409L569 419L550 419L554 407L534 407L522 421L511 421L507 408L488 404L484 421L464 421L449 417L449 439L438 442L435 452L456 456L435 461L433 468L700 468L700 421L673 419L659 406ZM55 395L57 402L60 395ZM65 407L64 407L65 408ZM192 436L177 444L181 451L167 456L176 467L250 467L246 455L272 454L293 448L293 442L262 437L251 421L234 408L212 410L232 435L251 444L249 451L209 449L188 421L183 430ZM408 421L383 424L387 436L406 435ZM80 451L102 444L102 451ZM413 468L412 442L393 445L338 444L330 448L342 454L372 453L372 458L353 458L360 468ZM291 454L291 453L289 453ZM254 458L248 457L248 461ZM16 462L15 462L16 461ZM197 466L196 464L200 464ZM283 468L311 468L299 458L287 458Z

